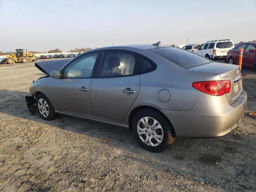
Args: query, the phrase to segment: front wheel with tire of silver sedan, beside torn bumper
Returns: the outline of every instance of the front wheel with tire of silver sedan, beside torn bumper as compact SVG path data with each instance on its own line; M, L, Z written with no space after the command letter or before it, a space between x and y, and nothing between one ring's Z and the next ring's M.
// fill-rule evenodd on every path
M54 112L51 102L44 94L39 94L36 97L36 106L42 119L51 121L56 117L56 113Z

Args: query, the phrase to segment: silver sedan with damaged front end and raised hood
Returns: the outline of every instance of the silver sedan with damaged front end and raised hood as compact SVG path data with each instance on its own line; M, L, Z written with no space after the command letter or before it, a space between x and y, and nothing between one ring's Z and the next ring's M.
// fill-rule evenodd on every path
M99 48L36 67L46 76L32 83L32 96L26 97L32 114L129 127L152 152L165 150L176 136L227 134L247 104L237 65L159 43Z

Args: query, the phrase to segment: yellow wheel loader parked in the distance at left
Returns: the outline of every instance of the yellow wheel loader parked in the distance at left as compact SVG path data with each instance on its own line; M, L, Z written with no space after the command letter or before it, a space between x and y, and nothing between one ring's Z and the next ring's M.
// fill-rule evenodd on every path
M16 49L15 54L6 55L6 59L2 60L2 64L14 64L16 63L28 63L35 61L36 57L34 53L24 52L24 49Z

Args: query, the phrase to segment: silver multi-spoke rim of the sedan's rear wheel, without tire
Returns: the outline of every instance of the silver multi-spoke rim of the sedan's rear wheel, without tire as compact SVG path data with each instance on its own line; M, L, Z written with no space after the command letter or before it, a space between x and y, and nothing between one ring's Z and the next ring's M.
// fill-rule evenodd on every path
M149 146L158 146L164 138L160 123L152 117L143 117L137 124L140 140Z

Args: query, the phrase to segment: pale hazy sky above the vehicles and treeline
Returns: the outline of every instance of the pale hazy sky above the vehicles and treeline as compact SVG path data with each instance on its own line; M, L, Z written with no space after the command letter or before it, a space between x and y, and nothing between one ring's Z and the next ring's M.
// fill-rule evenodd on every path
M256 0L0 0L0 51L256 40Z

